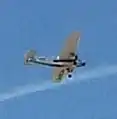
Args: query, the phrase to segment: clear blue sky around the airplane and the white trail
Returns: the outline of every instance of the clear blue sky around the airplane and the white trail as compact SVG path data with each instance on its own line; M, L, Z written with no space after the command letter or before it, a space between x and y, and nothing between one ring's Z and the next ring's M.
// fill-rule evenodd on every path
M0 93L51 80L52 69L25 67L24 53L58 55L72 31L81 32L87 70L117 61L116 0L1 0ZM0 102L0 119L115 119L117 75Z

